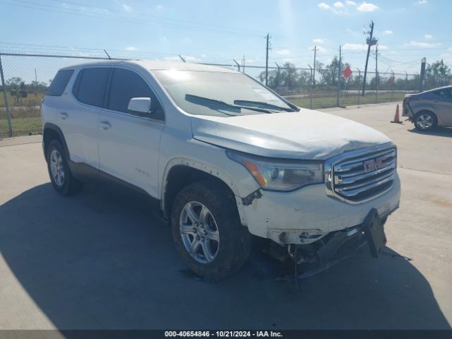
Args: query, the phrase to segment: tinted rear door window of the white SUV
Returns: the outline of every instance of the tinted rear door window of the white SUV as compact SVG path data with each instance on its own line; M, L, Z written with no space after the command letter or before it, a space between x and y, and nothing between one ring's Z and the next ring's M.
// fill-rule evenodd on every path
M86 105L103 107L109 67L90 67L78 73L73 94Z

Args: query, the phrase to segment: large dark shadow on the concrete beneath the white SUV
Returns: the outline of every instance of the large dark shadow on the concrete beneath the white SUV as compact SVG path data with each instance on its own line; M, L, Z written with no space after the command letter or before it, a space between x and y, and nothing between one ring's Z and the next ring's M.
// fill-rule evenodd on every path
M422 273L388 248L376 260L363 247L299 292L259 251L230 278L199 280L152 202L122 189L61 197L42 184L0 220L1 256L57 328L450 328Z

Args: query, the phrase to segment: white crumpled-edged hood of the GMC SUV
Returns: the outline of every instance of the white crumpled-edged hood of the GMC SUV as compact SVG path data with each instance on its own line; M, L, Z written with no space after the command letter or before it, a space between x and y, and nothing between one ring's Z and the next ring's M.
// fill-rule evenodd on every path
M310 109L227 118L195 116L191 129L196 140L223 148L305 160L326 160L391 141L363 124Z

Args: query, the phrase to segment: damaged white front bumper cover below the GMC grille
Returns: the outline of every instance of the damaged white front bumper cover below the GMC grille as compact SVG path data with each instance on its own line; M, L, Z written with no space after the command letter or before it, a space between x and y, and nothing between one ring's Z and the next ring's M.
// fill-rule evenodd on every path
M396 173L391 189L363 203L350 204L331 198L324 184L292 192L259 191L243 206L251 234L282 245L319 242L331 232L350 232L362 225L373 208L381 219L393 213L400 202L400 180Z

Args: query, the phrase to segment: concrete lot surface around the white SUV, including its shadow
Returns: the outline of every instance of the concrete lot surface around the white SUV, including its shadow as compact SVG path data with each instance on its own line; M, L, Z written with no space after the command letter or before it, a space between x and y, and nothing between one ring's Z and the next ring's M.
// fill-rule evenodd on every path
M390 124L394 110L326 109L396 141L402 204L385 255L364 247L301 293L258 252L227 280L196 280L147 199L102 186L63 198L39 137L0 141L0 328L450 328L452 129L420 134Z

